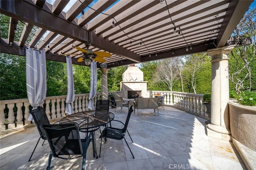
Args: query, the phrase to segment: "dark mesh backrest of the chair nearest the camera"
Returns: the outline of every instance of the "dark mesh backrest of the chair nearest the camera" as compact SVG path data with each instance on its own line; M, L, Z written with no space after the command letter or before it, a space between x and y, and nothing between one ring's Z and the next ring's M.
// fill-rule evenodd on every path
M42 127L54 157L83 154L79 129L76 123L43 125Z

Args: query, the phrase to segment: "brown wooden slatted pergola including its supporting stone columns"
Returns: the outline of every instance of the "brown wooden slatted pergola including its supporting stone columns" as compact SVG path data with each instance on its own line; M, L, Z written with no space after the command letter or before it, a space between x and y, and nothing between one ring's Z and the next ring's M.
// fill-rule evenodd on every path
M61 53L80 53L72 46L85 48L84 43L90 41L92 51L112 54L104 63L108 68L207 52L212 57L212 123L207 125L207 133L232 140L228 53L233 47L227 46L232 45L228 40L253 1L161 1L56 0L51 5L45 0L1 0L0 13L10 16L10 26L8 39L1 37L0 52L25 56L25 48L34 47L45 49L47 60L66 62ZM69 2L74 4L63 12ZM14 41L19 21L26 26L19 40ZM38 30L26 44L34 26ZM72 56L72 63L84 65L77 62L78 57ZM102 74L102 91L107 91L106 69Z

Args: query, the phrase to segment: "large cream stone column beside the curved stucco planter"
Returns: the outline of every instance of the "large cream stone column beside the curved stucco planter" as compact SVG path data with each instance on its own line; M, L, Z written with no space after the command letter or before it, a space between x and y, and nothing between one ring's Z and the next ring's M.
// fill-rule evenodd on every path
M207 125L207 135L231 141L229 127L229 79L228 54L234 46L220 47L207 51L212 57L211 124Z

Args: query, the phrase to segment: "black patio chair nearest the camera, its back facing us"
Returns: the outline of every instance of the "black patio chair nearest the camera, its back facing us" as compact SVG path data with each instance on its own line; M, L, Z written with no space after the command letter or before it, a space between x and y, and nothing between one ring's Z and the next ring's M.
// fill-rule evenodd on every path
M82 156L82 170L85 169L86 152L92 132L87 139L80 139L79 127L76 123L42 125L42 128L51 149L46 170L50 170L52 156L61 159L75 159Z

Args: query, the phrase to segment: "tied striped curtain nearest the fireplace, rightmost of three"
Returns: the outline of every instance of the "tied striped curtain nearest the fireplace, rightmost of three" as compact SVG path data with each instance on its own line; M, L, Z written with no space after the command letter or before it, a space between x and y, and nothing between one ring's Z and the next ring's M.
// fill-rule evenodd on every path
M92 100L96 95L96 86L97 86L97 64L95 61L92 61L91 62L90 94L89 94L89 103L88 103L89 110L94 109Z

